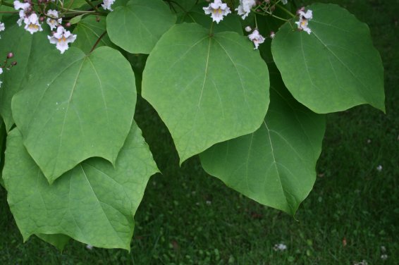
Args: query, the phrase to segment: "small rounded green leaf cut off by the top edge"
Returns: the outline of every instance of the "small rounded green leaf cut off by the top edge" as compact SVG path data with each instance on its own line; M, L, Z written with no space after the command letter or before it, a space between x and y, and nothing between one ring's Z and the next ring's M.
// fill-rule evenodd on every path
M176 22L161 0L130 0L106 18L111 41L132 54L149 54L158 39Z

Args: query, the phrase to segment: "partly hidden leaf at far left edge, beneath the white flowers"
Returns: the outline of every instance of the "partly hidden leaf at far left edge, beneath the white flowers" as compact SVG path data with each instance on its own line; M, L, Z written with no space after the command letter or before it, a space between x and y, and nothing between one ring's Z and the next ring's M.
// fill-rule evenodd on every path
M55 49L53 44L49 43L47 39L46 28L43 32L36 32L34 35L30 34L19 27L16 23L16 16L4 20L6 30L1 32L0 40L0 61L3 62L9 52L13 52L13 58L8 59L7 66L13 61L18 64L6 70L0 75L1 84L0 88L0 115L4 119L7 131L11 129L14 124L13 116L11 113L11 99L13 95L23 90L27 86L26 77L29 68L32 68L35 63L43 64L42 59L48 51ZM34 62L34 63L32 63Z

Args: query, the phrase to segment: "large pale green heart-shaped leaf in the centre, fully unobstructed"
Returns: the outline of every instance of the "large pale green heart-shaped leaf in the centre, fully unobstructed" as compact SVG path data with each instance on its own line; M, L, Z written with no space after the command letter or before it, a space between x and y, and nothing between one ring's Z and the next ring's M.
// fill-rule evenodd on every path
M149 55L142 96L166 123L182 163L259 128L269 105L269 73L247 37L209 35L184 23L166 32Z

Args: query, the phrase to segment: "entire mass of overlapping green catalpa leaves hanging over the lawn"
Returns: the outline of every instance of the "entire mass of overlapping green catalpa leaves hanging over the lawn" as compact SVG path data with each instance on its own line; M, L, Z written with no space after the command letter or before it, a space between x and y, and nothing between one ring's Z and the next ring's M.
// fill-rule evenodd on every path
M18 16L1 32L0 55L16 54L1 66L0 136L8 133L1 161L24 240L130 249L133 216L157 171L133 121L136 89L164 121L180 164L200 154L204 169L226 185L292 215L314 184L324 136L324 116L316 113L366 103L385 109L368 27L338 6L309 6L309 35L294 28L296 17L287 20L271 49L261 46L262 57L254 45L264 39L255 33L267 36L279 25L270 20L294 17L274 0L252 6L248 20L230 14L221 23L227 7L205 14L204 1L118 1L114 11L100 4L51 4L76 41L44 23L31 35L41 25L29 22L28 9L22 18L30 32L16 25ZM32 10L40 14L43 5Z

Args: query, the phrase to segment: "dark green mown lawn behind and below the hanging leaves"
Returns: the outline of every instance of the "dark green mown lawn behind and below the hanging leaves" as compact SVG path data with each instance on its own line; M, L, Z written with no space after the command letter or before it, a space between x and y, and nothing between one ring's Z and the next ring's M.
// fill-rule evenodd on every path
M141 101L137 122L163 175L149 181L131 252L71 242L61 254L35 237L23 244L0 188L0 264L399 264L399 1L333 2L371 27L387 111L359 106L328 116L319 177L297 221L230 190L197 158L179 168L166 128L151 130L159 118ZM273 250L280 242L285 252Z

